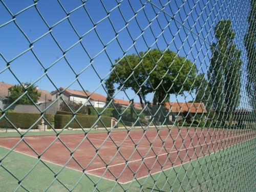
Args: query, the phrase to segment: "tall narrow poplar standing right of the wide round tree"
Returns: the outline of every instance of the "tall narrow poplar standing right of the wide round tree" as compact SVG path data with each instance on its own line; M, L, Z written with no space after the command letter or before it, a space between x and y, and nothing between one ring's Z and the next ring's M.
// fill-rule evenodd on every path
M217 42L211 45L208 70L212 108L222 114L237 108L241 90L241 51L233 42L235 33L230 20L221 20L215 27Z

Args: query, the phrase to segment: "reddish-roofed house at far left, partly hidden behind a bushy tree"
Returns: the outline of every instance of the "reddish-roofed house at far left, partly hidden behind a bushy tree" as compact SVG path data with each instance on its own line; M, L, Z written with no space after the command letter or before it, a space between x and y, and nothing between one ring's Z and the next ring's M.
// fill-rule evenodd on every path
M4 104L7 104L9 102L8 101L8 95L9 95L8 89L12 86L14 86L14 85L10 84L10 83L0 82L0 106L1 107L3 107ZM36 104L40 104L40 103L44 103L46 101L52 100L52 96L51 96L50 92L48 92L46 90L39 90L39 89L38 89L38 91L41 93L41 96L37 100Z

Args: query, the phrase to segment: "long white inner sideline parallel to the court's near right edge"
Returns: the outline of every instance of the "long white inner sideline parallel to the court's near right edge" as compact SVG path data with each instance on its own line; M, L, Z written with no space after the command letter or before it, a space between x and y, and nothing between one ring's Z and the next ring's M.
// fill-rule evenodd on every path
M160 155L158 155L158 157L159 156L163 156L163 155L167 155L167 154L172 154L172 153L176 153L176 152L181 152L181 151L189 150L190 148L197 148L199 146L213 144L213 143L220 142L220 141L227 140L227 139L233 139L233 138L236 138L236 137L241 137L241 136L239 135L239 136L235 136L235 137L229 137L229 138L218 140L218 141L214 141L214 142L204 143L202 145L197 145L197 146L192 146L192 147L189 147L189 148L184 148L183 150L178 150L178 151L176 150L176 151L173 151L173 152L170 152L170 153L160 154ZM156 156L146 157L146 158L144 158L144 160L145 159L151 159L151 158L156 158ZM137 160L133 160L133 161L128 161L127 163L126 162L125 163L118 163L118 164L114 164L114 165L109 165L108 167L113 167L113 166L118 166L118 165L123 165L123 164L128 164L128 163L133 163L133 162L137 162L137 161L141 161L141 160L142 159L137 159ZM91 169L91 170L87 170L86 172L93 172L94 170L99 170L99 169L102 169L102 168L106 168L106 166L100 167L100 168Z

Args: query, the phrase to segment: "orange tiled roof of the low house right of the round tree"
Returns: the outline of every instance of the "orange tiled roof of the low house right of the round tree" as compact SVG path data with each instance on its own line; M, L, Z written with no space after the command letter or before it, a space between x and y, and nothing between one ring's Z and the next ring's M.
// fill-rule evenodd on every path
M165 106L172 112L190 112L206 113L204 103L183 103L183 102L166 102Z

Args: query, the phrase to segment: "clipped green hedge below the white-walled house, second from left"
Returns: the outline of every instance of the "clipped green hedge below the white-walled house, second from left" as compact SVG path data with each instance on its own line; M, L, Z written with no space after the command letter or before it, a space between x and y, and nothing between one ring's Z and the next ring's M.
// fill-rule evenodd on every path
M72 115L55 115L54 116L54 128L55 129L63 129L70 120L72 119ZM83 128L90 128L98 119L98 116L88 115L88 116L82 116L77 115L76 116L77 121L82 125ZM100 117L101 121L104 123L106 127L111 126L111 119L112 117ZM104 127L104 125L98 121L98 127ZM72 127L74 129L81 128L81 126L76 122L76 120L72 120L67 127Z

